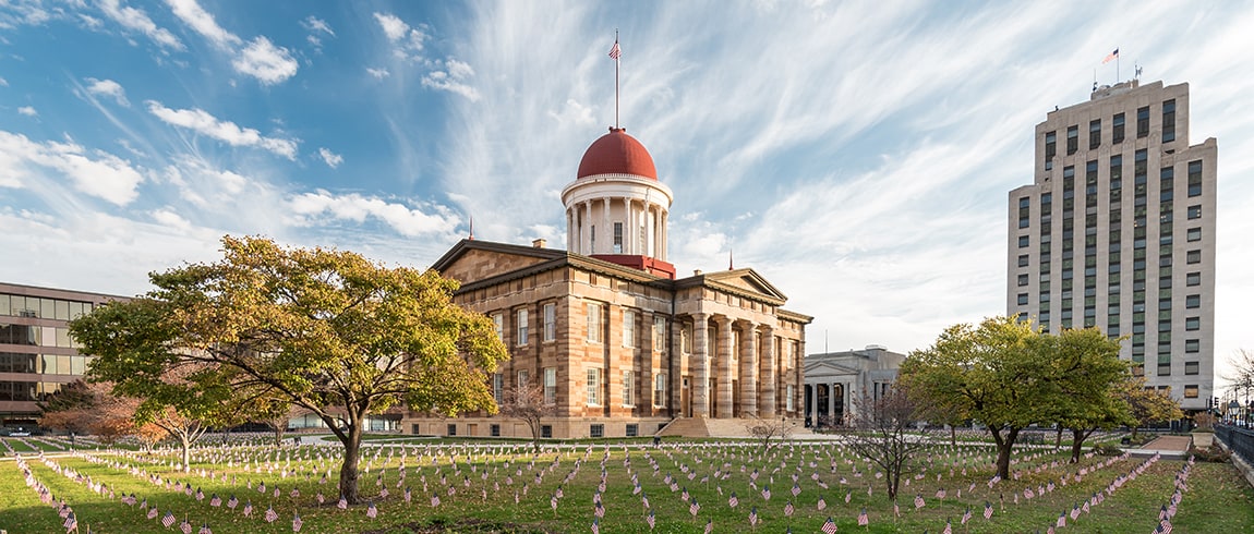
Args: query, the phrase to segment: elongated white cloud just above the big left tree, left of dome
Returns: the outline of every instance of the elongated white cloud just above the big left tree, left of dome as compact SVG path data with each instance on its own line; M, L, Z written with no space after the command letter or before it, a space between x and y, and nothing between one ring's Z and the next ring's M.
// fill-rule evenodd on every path
M431 207L434 213L360 194L331 194L319 189L298 194L288 201L288 209L297 217L295 223L308 224L315 217L327 214L335 219L362 223L367 218L384 222L403 236L441 234L453 232L459 222L446 208Z

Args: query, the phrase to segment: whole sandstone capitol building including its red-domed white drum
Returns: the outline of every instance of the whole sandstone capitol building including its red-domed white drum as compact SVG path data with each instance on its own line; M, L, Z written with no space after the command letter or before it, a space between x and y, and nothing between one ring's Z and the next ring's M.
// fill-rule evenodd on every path
M455 302L495 322L510 359L493 392L543 387L545 437L652 435L676 420L800 417L805 325L751 268L676 278L667 262L671 189L621 128L588 147L562 191L567 249L463 239L433 268L461 282ZM697 425L697 426L692 426ZM484 412L406 412L403 431L524 436Z

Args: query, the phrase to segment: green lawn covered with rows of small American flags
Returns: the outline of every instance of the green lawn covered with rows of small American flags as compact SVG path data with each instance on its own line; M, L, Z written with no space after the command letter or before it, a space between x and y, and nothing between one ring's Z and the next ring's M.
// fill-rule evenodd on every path
M1185 466L1183 461L1151 461L1107 495L1114 480L1146 459L1090 456L1066 464L1063 453L1033 449L1016 455L1012 469L1021 475L1017 480L989 488L991 448L937 446L920 459L920 471L908 478L909 485L903 481L898 516L883 480L875 476L878 471L833 444L784 445L766 455L747 444L717 441L668 442L661 449L617 442L547 445L540 453L524 444L393 444L369 449L362 461L361 493L379 511L371 519L366 505L336 506L336 450L308 445L281 450L206 448L196 451L192 473L172 466L177 458L172 451L61 454L46 461L24 456L34 479L74 509L83 531L87 525L98 533L171 531L159 519L172 511L178 523L186 518L193 531L208 525L217 534L292 531L295 513L301 516L301 531L314 533L587 533L593 520L607 534L700 533L707 525L727 533L816 533L829 516L846 533L939 533L947 521L956 533L1030 533L1046 531L1060 513L1067 513L1067 526L1060 531L1145 534L1157 524L1160 506L1171 498L1175 476ZM1081 469L1086 474L1077 480ZM326 483L321 483L324 475L329 475ZM89 481L103 483L105 489L94 491ZM604 489L598 491L602 481ZM262 484L265 493L260 491ZM1172 519L1176 531L1254 531L1254 490L1233 466L1194 464L1186 488ZM944 499L937 495L942 489ZM1040 495L1027 499L1025 489ZM203 499L197 499L197 490ZM729 503L732 491L736 506ZM148 519L140 505L123 504L122 498L130 494L155 506L158 516ZM319 494L324 504L319 504ZM1105 499L1096 504L1091 500L1095 494ZM213 495L223 503L213 506ZM232 495L240 500L234 509L226 504ZM433 495L439 496L438 505L433 505ZM917 495L924 500L919 509ZM1090 501L1090 511L1080 511L1072 520L1070 513L1085 501ZM242 513L246 503L253 505L247 518ZM785 513L789 503L791 515ZM993 509L989 520L983 518L986 503ZM278 516L273 523L265 519L270 508ZM759 523L751 525L755 508ZM869 525L859 526L864 508ZM963 525L968 508L972 519ZM15 463L0 463L0 528L60 533L65 531L63 521L55 508L43 504L26 486Z

